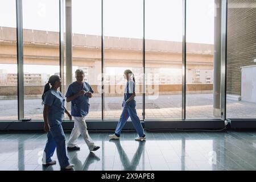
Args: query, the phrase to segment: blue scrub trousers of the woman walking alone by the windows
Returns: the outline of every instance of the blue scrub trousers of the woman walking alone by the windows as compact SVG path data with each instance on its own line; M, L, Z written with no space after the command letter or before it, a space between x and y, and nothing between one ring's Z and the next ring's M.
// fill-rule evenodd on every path
M136 101L131 100L123 107L121 117L117 123L117 128L115 129L115 134L117 135L121 134L121 130L123 126L125 126L127 119L131 117L131 122L133 122L133 126L135 127L137 133L139 134L139 137L143 137L144 135L143 128L141 125L141 121L139 120L139 117L137 115L135 106L136 106Z

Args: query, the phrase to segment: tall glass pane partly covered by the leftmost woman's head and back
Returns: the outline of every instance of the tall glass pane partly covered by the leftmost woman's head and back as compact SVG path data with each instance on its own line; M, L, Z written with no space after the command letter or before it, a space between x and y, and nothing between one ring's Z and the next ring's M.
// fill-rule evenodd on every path
M23 0L24 117L43 118L42 93L60 75L59 1Z

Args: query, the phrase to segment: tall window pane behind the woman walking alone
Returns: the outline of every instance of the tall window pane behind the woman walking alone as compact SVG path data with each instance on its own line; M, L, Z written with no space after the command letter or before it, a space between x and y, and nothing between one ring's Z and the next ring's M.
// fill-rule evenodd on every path
M125 69L134 73L137 113L142 119L142 38L142 0L104 1L105 119L120 117Z

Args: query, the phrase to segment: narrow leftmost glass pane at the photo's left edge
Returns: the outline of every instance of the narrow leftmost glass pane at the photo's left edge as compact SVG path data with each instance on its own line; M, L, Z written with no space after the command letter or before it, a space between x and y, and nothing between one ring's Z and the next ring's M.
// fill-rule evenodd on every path
M18 119L15 0L0 1L0 119Z

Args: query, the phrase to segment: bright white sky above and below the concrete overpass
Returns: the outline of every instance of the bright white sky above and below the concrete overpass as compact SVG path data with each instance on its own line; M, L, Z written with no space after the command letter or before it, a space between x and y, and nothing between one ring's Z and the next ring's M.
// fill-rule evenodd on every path
M145 1L146 39L181 42L182 0ZM15 0L0 0L0 26L16 27L15 21ZM23 28L59 31L59 0L23 0ZM72 0L72 30L101 35L101 0ZM104 0L104 35L142 39L143 1ZM214 0L187 0L187 42L213 44L213 36ZM59 69L42 67L49 73ZM35 66L24 65L30 71Z

